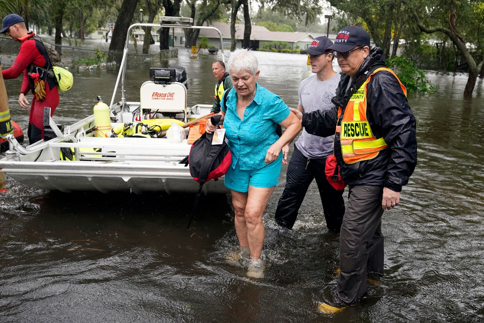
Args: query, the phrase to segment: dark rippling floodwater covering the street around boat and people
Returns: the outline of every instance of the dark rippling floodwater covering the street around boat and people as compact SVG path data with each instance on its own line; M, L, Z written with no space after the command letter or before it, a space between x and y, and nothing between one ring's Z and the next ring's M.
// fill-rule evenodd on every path
M256 55L259 84L295 107L299 83L311 75L305 57ZM215 57L191 60L181 50L176 60L132 67L128 100L137 100L150 66L182 65L189 105L210 103ZM110 101L116 75L75 73L55 119L69 124L88 116L96 95ZM294 230L277 228L273 214L286 168L264 214L263 279L225 261L237 244L225 195L203 198L185 231L192 195L64 194L7 179L0 197L0 322L483 322L483 80L464 100L465 75L429 77L437 93L409 94L418 166L401 205L383 215L385 276L356 306L318 312L336 283L338 237L326 231L314 184ZM28 111L16 104L20 80L6 85L11 113L25 128Z

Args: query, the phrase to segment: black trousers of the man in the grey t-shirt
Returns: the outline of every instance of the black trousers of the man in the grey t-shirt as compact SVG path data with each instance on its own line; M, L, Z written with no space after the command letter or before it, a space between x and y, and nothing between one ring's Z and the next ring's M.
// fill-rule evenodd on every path
M294 152L287 166L286 187L275 211L275 220L281 227L292 229L307 189L313 179L316 179L326 226L329 231L340 231L345 214L344 191L337 191L328 183L325 167L326 158L308 159L294 145Z

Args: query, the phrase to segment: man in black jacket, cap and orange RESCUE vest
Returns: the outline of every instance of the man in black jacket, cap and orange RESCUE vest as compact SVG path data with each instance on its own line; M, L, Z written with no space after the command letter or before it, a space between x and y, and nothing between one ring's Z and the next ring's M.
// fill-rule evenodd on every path
M386 68L381 48L370 49L370 36L348 26L333 51L341 77L335 107L302 113L291 109L310 134L334 137L334 156L348 184L348 205L340 233L340 272L332 299L319 305L334 313L367 292L369 273L383 275L381 216L400 203L402 186L417 165L415 117L406 89Z

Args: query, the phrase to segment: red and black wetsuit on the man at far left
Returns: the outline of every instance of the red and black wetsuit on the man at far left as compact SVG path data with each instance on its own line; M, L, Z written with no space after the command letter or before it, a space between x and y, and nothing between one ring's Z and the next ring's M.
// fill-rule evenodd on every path
M27 94L29 89L33 93L32 105L30 107L29 116L29 141L30 144L44 138L44 107L50 107L50 115L54 114L54 110L59 105L59 92L57 90L57 85L54 80L44 74L41 77L45 81L45 100L36 101L33 79L28 75L28 71L33 67L32 73L36 73L35 67L47 68L48 66L48 56L42 43L31 39L34 33L31 32L27 39L22 41L20 46L20 52L15 58L15 62L12 67L1 71L4 79L11 79L20 76L24 72L24 79L22 82L21 93ZM42 74L41 71L39 73Z

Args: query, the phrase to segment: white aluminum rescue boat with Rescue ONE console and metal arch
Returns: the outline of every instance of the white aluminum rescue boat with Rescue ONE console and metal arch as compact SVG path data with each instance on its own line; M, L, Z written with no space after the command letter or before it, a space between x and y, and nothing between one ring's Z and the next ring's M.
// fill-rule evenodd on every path
M128 39L137 27L212 29L220 35L220 50L225 61L222 34L214 27L192 26L191 18L164 17L161 21L159 24L136 23L128 29L113 95L109 106L106 105L108 124L104 127L96 124L99 118L92 114L61 131L49 117L49 111L45 111L45 139L23 147L9 135L9 149L0 160L2 171L25 185L62 192L196 193L198 183L186 164L180 163L190 151L187 139L173 142L157 135L175 120L184 124L209 114L212 105L187 107L187 83L182 67L151 68L151 78L141 85L140 96L127 101L124 88ZM115 102L120 83L123 94L121 100ZM188 128L184 131L187 134ZM204 194L227 192L223 177L208 182L202 191Z

